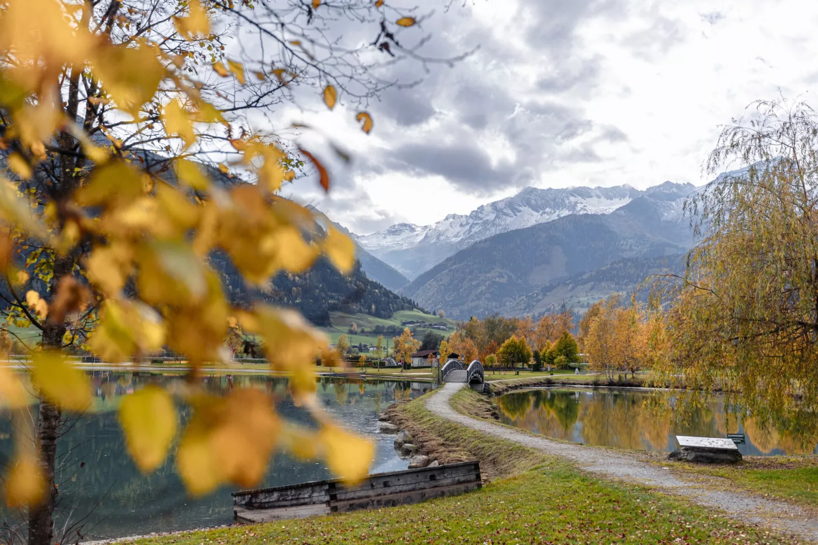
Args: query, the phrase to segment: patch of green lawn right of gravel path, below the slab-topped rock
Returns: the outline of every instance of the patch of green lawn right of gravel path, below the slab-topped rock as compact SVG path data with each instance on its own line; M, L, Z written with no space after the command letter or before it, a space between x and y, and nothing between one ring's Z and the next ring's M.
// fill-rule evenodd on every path
M738 487L763 496L818 508L818 457L752 456L735 466L706 466L663 460L674 471L726 489ZM721 477L725 481L710 479Z

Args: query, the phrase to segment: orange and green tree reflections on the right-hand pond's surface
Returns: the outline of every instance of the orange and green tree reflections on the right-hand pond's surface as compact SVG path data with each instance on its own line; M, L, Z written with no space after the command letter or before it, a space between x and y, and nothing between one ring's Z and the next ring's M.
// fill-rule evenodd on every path
M520 428L618 448L666 451L675 448L674 435L726 437L744 430L762 453L802 454L812 453L818 439L812 413L798 420L742 418L743 409L723 398L694 392L533 390L501 396L497 405L504 420Z

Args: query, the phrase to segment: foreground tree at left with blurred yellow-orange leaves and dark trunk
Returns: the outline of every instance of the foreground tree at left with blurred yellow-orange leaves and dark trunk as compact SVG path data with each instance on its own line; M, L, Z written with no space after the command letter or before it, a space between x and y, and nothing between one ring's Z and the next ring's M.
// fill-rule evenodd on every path
M312 363L330 353L325 337L289 310L232 307L209 265L209 255L222 252L256 286L276 272L303 272L321 256L342 271L353 266L346 236L317 227L308 209L278 196L308 165L329 190L326 169L312 153L285 150L275 135L251 129L245 114L273 106L281 90L301 82L318 85L331 109L343 82L366 66L353 66L350 79L349 63L313 56L308 38L278 40L273 64L227 56L217 28L240 20L273 41L285 32L254 19L253 9L249 0L0 2L4 329L42 332L29 374L0 368L0 400L18 430L5 496L29 507L29 543L54 535L61 417L92 403L65 347L114 363L162 347L187 357L184 390L137 391L121 403L119 420L134 462L153 471L179 432L173 396L191 405L177 453L191 493L256 484L276 448L323 458L348 480L366 473L371 444L314 403ZM308 25L322 9L335 8L313 8ZM377 18L384 40L393 35L384 29L414 24ZM373 85L357 97L371 96ZM371 130L365 111L356 119ZM196 160L211 156L222 160L218 168ZM258 390L217 398L202 388L200 366L225 358L222 340L236 327L262 340L273 368L290 372L294 399L312 411L317 430L283 421Z

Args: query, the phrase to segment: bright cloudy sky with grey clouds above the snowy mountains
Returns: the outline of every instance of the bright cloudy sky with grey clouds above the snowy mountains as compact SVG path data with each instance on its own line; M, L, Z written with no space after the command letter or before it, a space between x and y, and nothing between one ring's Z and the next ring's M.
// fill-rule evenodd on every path
M333 164L329 196L308 180L288 191L359 234L467 214L525 186L699 185L719 125L779 93L812 103L818 80L818 2L415 3L434 10L404 31L430 36L425 54L479 50L429 74L396 65L402 81L425 79L383 92L368 136L343 95L333 111L315 97L287 113L353 155Z

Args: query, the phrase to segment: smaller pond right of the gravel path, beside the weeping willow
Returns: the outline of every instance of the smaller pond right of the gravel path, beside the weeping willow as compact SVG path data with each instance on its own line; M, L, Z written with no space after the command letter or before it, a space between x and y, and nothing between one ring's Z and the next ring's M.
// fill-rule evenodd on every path
M505 424L574 443L669 453L676 449L676 435L744 433L746 444L738 446L745 456L816 452L814 442L763 426L751 417L736 417L726 411L721 395L691 409L681 421L649 408L649 400L659 395L667 393L549 388L505 394L497 399L497 406Z

